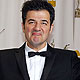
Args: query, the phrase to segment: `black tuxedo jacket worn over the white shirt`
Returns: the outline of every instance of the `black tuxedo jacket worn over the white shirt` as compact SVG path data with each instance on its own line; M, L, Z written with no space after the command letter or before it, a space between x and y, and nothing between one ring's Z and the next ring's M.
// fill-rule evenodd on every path
M80 60L73 51L51 48L40 80L80 80ZM37 76L37 75L36 75ZM0 80L30 80L25 60L25 44L0 51Z

